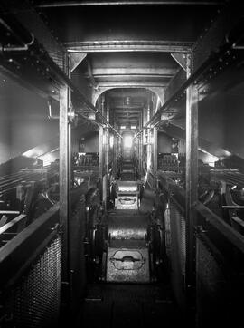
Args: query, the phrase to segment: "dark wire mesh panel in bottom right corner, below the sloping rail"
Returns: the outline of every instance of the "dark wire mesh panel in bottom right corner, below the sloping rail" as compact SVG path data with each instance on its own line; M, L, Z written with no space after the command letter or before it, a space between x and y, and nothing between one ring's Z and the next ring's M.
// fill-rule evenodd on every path
M199 237L196 251L197 327L243 327L243 322L239 323L241 311L232 288L233 277L228 276L226 269Z

